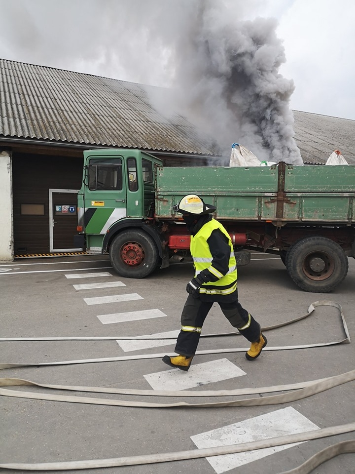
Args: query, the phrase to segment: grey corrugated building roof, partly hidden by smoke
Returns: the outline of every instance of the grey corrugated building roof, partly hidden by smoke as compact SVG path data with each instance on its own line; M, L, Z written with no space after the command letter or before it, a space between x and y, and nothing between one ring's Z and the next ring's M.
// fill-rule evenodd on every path
M325 163L339 149L355 164L355 120L300 111L294 118L305 163ZM0 136L216 156L185 118L154 110L146 86L4 59Z

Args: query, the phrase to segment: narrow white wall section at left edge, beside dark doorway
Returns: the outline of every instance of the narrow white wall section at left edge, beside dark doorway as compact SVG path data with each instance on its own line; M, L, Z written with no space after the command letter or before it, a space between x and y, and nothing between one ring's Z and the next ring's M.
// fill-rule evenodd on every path
M0 260L12 259L12 163L0 152Z

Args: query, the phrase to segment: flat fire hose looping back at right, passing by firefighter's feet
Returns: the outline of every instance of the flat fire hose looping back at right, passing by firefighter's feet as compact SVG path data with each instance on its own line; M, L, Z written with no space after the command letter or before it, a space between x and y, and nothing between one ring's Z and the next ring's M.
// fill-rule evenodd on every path
M316 307L318 306L332 306L334 308L337 308L339 310L342 324L343 324L343 329L345 332L345 339L342 339L340 341L331 341L331 342L325 342L325 343L315 343L315 344L305 344L305 345L297 345L297 346L278 346L278 347L265 347L263 351L285 351L285 350L293 350L293 349L308 349L308 348L313 348L313 347L324 347L324 346L333 346L336 344L342 344L342 343L350 343L350 335L348 331L348 327L345 321L343 309L339 303L336 303L334 301L316 301L315 303L312 303L310 307L308 308L308 313L304 316L300 316L294 319L291 319L290 321L286 321L284 323L277 324L275 326L270 326L268 328L263 328L262 330L268 330L268 329L275 329L279 327L286 326L288 324L292 324L293 322L300 321L301 319L304 319L308 316L310 316L313 311L315 310ZM231 333L227 333L226 335L230 335ZM67 340L67 338L2 338L0 341L9 341L9 340L14 340L16 339L17 341L24 341L24 340ZM116 339L116 337L114 338ZM139 339L139 337L135 337L133 339ZM166 338L157 338L157 339L166 339ZM202 355L202 354L230 354L230 353L239 353L239 352L246 352L248 351L249 348L231 348L231 349L214 349L214 350L207 350L207 351L197 351L196 355ZM39 363L0 363L0 369L7 369L7 368L12 368L12 367L38 367L38 366L44 366L44 365L69 365L69 364L87 364L87 363L98 363L98 362L117 362L117 361L123 361L123 360L142 360L142 359L153 359L153 358L161 358L164 357L166 353L162 354L144 354L144 355L137 355L137 356L118 356L118 357L100 357L100 358L95 358L95 359L80 359L80 360L64 360L64 361L56 361L56 362L39 362ZM175 353L169 354L170 356L175 356Z

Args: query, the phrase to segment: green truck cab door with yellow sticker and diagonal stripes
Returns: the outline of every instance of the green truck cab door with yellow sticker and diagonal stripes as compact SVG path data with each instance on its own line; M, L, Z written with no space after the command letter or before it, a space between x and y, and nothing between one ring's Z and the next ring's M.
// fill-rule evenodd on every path
M85 233L103 236L113 222L127 215L123 158L89 158L86 176Z

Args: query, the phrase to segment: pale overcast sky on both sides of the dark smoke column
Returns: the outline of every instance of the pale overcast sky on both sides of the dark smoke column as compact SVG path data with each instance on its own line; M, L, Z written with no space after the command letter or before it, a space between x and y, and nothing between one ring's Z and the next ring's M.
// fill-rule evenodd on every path
M174 33L175 18L154 23L165 1L0 0L0 57L169 85L167 57L149 54L159 41L151 35L144 41L145 27ZM236 20L278 19L287 60L281 72L295 82L293 109L355 119L352 0L249 0L243 8L234 3ZM122 54L128 39L134 55Z

